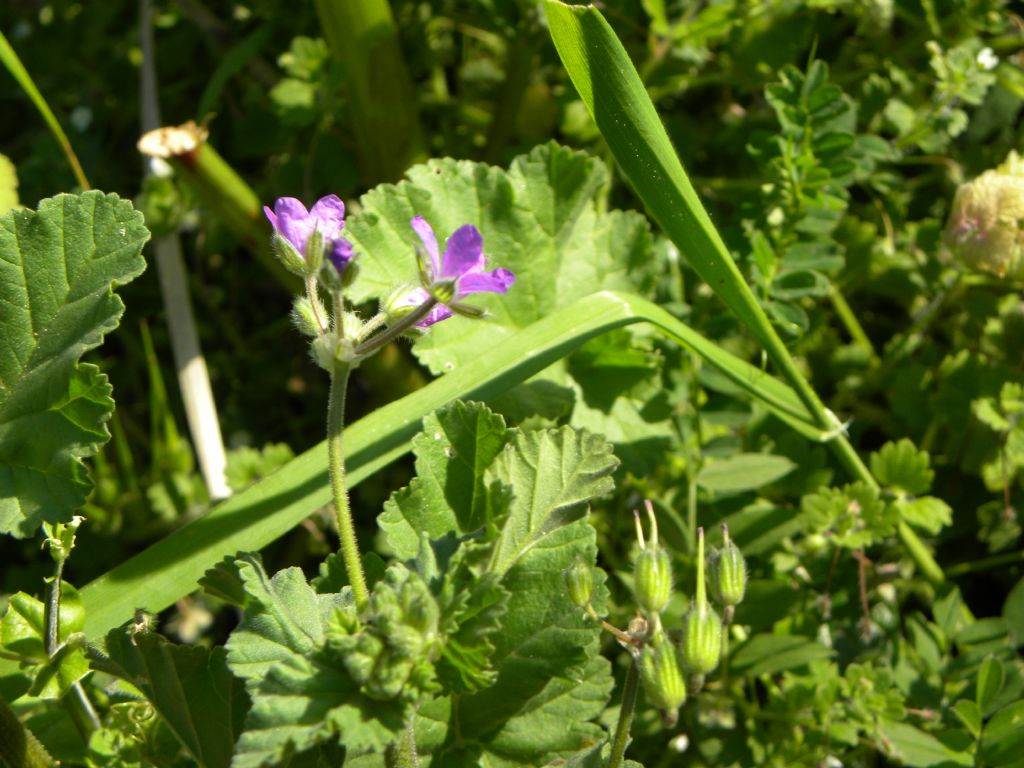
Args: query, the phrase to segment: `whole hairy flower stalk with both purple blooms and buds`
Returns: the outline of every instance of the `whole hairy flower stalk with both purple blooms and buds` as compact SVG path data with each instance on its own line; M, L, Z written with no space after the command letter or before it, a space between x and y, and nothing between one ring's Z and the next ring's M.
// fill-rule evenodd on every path
M351 243L341 236L345 204L330 195L306 210L295 198L280 198L273 209L263 210L273 227L274 253L289 271L304 281L305 296L295 301L293 322L303 335L312 338L313 358L331 376L328 474L342 557L355 606L362 610L370 602L370 594L345 482L345 397L349 376L362 359L399 336L423 333L454 313L482 316L483 310L464 304L463 299L480 292L505 293L515 283L515 275L501 268L483 271L483 238L476 227L466 224L457 229L441 254L433 229L417 216L411 224L422 243L417 246L421 286L398 289L377 316L362 323L345 305L344 289L357 266ZM328 306L321 301L322 291L330 297Z

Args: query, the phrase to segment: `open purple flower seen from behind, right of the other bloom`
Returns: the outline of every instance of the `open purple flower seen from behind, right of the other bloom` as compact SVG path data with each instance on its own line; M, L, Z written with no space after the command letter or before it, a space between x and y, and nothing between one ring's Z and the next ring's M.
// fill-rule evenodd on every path
M437 238L426 219L416 216L410 222L413 230L423 243L423 249L430 258L427 265L428 279L431 284L451 282L454 296L451 300L439 303L430 314L420 321L420 328L432 326L438 321L452 316L452 307L456 311L461 308L461 299L474 293L506 293L515 283L515 274L509 269L493 269L483 271L485 258L483 256L483 238L472 224L465 224L456 229L447 239L444 253L438 253ZM422 304L429 298L425 289L417 289L407 299L409 304Z

